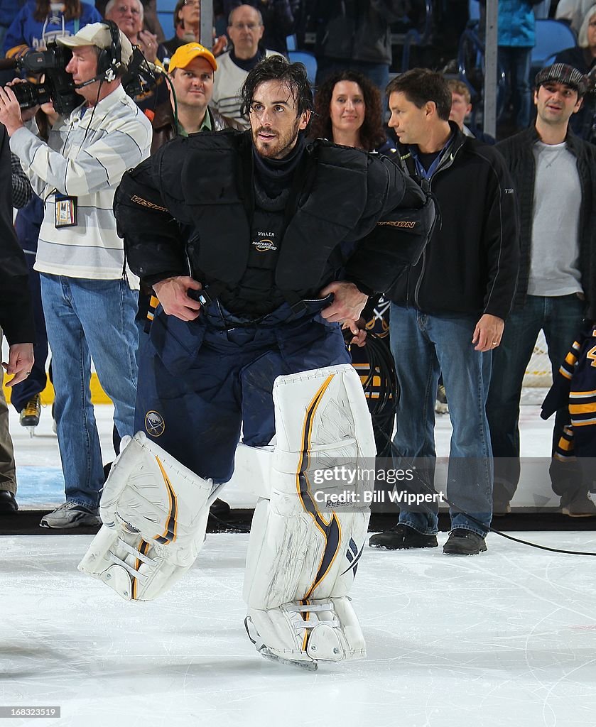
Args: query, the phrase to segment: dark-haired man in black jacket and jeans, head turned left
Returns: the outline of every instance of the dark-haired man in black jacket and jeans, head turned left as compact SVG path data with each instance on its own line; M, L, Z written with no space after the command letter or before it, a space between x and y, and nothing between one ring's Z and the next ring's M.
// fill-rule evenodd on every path
M391 295L400 384L398 466L416 466L410 500L432 491L434 395L442 371L453 423L448 497L456 505L443 553L475 555L486 550L492 511L485 405L492 352L501 342L517 277L514 190L494 147L465 137L448 121L451 92L439 73L414 68L394 79L387 93L389 126L400 140L397 161L410 176L428 180L441 220L421 262ZM437 499L402 507L397 526L373 536L370 545L437 547L437 507Z

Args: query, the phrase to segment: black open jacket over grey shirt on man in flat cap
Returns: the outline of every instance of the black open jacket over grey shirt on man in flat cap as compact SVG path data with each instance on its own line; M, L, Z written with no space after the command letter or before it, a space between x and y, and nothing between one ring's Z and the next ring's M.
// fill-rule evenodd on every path
M517 190L520 209L520 275L514 305L525 302L530 274L532 213L536 161L533 145L540 139L536 126L525 129L497 144L504 156L509 173ZM568 150L577 158L577 170L581 185L579 212L579 270L581 287L587 300L587 316L596 314L596 148L569 131L565 139ZM562 243L564 241L561 241Z

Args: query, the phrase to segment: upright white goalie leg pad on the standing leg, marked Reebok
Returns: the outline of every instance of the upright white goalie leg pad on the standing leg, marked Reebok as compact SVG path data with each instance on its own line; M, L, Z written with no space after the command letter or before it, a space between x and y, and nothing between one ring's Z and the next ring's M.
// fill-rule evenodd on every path
M343 509L317 502L311 487L313 468L341 463L357 470L374 462L362 385L351 366L330 366L279 377L274 403L271 495L255 507L247 555L247 628L257 645L280 658L364 656L362 632L345 597L365 543L370 512L362 491L368 483L354 482L359 502ZM303 619L311 603L326 606L309 611L316 618Z

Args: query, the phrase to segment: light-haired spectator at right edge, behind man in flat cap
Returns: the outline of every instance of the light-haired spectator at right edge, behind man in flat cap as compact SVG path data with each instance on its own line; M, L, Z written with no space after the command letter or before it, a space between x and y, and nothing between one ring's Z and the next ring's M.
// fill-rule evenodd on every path
M579 29L578 45L566 48L555 57L555 63L565 63L588 75L596 68L596 4L587 9ZM581 139L596 141L596 99L593 93L584 96L579 111L569 119L569 128Z

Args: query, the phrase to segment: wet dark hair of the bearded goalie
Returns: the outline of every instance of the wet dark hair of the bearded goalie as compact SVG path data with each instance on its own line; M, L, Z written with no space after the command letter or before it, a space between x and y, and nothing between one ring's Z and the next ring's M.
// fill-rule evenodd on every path
M257 87L266 81L281 81L287 86L296 105L297 117L305 111L313 110L312 89L304 65L288 63L281 55L270 55L255 65L242 85L240 113L243 116L248 116L250 112Z

